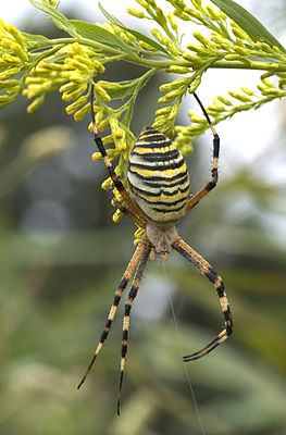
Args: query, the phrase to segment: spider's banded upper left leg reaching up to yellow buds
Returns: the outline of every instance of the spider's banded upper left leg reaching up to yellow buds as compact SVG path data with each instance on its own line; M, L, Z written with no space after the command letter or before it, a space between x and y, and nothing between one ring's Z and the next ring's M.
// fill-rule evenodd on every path
M91 91L90 91L90 112L91 112L91 122L92 122L92 129L94 129L94 139L95 142L97 144L97 147L99 149L99 152L101 153L103 158L103 162L107 166L107 170L109 172L109 175L112 179L112 183L119 190L120 195L122 198L125 200L125 202L128 204L128 207L139 216L142 217L141 210L136 206L136 203L132 200L129 197L128 192L125 190L125 187L123 186L122 182L115 174L115 171L112 166L111 160L107 154L105 148L102 144L101 137L98 133L97 126L96 126L96 120L95 120L95 109L94 109L94 99L95 99L95 87L91 85Z

